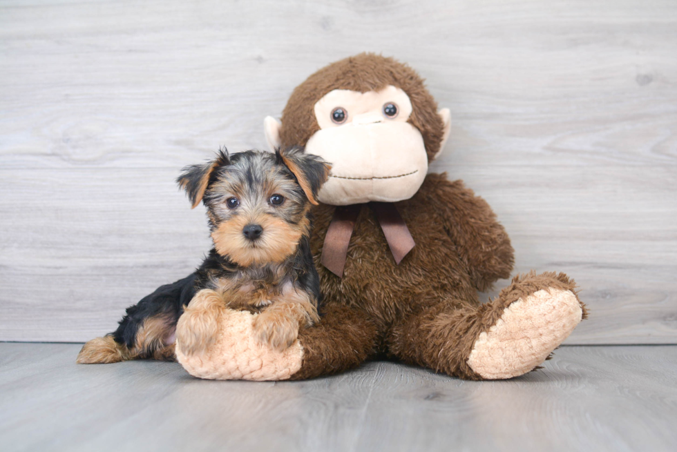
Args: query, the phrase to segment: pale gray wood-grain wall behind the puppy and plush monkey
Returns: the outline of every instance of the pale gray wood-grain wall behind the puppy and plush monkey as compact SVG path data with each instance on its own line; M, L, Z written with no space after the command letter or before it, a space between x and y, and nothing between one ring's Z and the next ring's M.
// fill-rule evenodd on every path
M567 343L677 343L674 0L2 1L0 340L88 340L187 275L209 237L180 168L264 148L364 50L450 108L431 170L488 200L516 271L579 282Z

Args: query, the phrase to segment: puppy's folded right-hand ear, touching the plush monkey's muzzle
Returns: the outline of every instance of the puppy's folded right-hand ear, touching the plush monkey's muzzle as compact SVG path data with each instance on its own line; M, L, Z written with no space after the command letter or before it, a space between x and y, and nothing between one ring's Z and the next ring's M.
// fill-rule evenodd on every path
M293 146L285 150L278 148L275 154L278 161L282 161L296 176L296 181L308 200L317 205L317 193L329 178L332 166L317 155L304 153L301 146Z

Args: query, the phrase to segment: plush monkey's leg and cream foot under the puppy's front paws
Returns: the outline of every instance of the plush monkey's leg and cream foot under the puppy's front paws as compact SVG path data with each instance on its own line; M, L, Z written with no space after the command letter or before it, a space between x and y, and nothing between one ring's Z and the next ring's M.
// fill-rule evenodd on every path
M215 309L216 307L216 309ZM285 350L261 344L247 311L216 304L192 304L177 326L176 355L191 375L211 380L302 380L359 366L374 351L376 328L364 315L327 304L318 323L301 328ZM186 340L199 325L218 324L211 344ZM184 346L186 342L186 346ZM204 342L200 342L204 344Z

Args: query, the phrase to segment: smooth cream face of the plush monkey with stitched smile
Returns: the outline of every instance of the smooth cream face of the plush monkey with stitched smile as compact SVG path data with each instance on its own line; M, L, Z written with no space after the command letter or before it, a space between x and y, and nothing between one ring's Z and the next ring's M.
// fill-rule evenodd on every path
M386 104L397 106L397 115L386 117ZM347 115L344 123L332 121L335 108ZM421 132L407 122L412 104L406 92L394 86L370 92L333 90L316 102L314 112L321 130L305 150L336 162L318 195L321 202L396 202L419 190L428 156Z

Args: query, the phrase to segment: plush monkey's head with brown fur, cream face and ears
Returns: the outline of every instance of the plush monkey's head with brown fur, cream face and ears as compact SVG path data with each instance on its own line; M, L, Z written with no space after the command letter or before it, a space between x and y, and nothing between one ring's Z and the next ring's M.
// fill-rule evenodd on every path
M271 149L305 146L332 164L318 199L344 206L397 202L419 190L450 130L447 108L409 66L362 53L336 61L297 86L282 124L265 119Z

